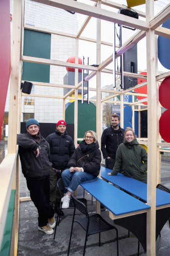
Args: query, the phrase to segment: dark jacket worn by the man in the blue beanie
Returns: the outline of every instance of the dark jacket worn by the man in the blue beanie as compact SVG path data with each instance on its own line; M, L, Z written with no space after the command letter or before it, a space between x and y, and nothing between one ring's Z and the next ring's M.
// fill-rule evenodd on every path
M18 134L17 144L22 165L22 172L28 179L43 179L50 174L52 163L49 161L50 146L41 136L40 144L29 134ZM36 157L34 151L39 148L40 154Z

